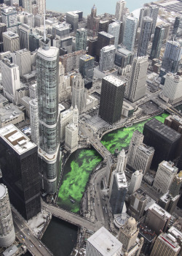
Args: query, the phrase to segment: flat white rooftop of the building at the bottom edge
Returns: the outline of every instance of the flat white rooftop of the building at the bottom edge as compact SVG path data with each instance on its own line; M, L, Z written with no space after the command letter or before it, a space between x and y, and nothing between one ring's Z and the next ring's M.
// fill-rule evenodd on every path
M104 256L112 256L119 249L122 249L122 243L108 232L105 227L100 227L87 241Z

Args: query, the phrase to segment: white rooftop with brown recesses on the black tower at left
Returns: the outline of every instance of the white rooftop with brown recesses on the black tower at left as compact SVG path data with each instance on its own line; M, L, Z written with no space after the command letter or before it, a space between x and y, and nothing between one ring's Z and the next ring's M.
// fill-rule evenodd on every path
M11 146L17 154L24 154L31 148L35 148L36 144L26 137L15 125L8 124L0 129L0 137Z

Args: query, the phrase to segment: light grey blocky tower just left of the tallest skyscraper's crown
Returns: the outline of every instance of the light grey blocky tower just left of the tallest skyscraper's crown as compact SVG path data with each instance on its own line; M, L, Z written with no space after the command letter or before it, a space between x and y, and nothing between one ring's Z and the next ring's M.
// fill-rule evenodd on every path
M19 66L20 77L31 73L31 52L23 49L16 51L16 64Z

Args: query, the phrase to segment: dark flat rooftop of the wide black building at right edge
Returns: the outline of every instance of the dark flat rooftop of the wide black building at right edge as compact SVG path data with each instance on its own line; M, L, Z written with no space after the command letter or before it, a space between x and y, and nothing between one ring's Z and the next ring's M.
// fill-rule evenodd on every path
M170 143L181 138L181 134L179 132L176 132L174 129L162 124L162 122L158 121L156 118L152 118L150 121L147 121L144 125L144 129L145 127L148 127L151 131L161 135L165 140L169 140Z

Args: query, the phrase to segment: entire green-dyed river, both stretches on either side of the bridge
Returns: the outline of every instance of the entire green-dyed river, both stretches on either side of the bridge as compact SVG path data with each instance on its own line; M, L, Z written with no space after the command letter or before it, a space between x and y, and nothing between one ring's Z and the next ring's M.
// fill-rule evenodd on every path
M155 116L155 118L164 122L167 116L168 114L163 113L160 116ZM150 119L151 118L148 120ZM122 148L129 146L132 133L136 129L143 132L143 126L146 121L133 124L132 127L109 132L103 136L101 143L103 143L103 146L105 146L111 154L114 154L116 148L121 151ZM79 203L82 199L90 173L92 173L94 167L101 161L102 157L100 157L97 151L90 148L78 149L71 154L63 170L63 178L58 194L58 206L68 211L79 213ZM73 200L72 203L71 200Z

